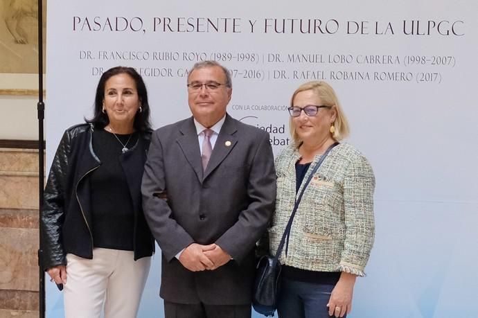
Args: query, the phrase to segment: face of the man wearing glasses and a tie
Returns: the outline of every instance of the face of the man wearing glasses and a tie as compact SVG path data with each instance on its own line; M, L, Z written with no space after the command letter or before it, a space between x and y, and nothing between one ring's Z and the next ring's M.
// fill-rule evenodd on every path
M204 127L213 126L226 114L232 89L225 84L226 75L220 67L203 67L189 74L189 108Z

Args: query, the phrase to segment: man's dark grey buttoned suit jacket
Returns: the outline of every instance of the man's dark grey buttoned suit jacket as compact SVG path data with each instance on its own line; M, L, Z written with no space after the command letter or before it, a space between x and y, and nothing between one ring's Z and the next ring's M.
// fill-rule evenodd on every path
M276 198L269 134L227 115L203 173L193 118L161 127L152 134L141 191L162 252L161 297L175 303L250 303L254 246ZM175 255L193 242L216 243L233 260L217 270L190 272Z

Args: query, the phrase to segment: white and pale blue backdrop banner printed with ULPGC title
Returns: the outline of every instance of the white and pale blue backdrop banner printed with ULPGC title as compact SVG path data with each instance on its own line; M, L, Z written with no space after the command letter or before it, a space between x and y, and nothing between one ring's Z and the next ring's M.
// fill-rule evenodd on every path
M49 0L47 166L110 67L141 73L161 127L191 116L188 69L218 60L229 114L270 132L276 154L294 89L326 80L377 179L350 317L478 317L477 12L475 0ZM163 317L160 271L158 251L139 317ZM47 315L63 317L53 284Z

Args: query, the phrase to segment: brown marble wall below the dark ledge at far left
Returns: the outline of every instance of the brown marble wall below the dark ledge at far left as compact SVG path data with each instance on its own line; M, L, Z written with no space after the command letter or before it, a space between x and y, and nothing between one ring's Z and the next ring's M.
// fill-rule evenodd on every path
M38 152L0 148L0 318L39 317Z

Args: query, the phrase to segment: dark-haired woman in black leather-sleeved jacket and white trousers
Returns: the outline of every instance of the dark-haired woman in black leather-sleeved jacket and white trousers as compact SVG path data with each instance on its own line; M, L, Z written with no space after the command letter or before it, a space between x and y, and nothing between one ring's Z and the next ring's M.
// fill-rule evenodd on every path
M94 118L64 132L40 224L65 317L136 317L154 251L141 206L150 134L146 87L130 67L103 73Z

